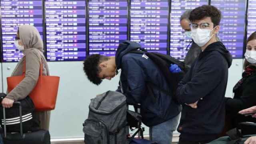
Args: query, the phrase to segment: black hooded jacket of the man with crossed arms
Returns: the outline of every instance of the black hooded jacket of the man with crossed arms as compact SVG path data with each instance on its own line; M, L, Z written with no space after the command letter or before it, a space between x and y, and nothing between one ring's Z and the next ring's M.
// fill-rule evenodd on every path
M208 140L224 127L224 96L232 56L222 42L201 52L178 85L177 100L183 104L178 131L184 140ZM185 104L198 101L194 109Z

